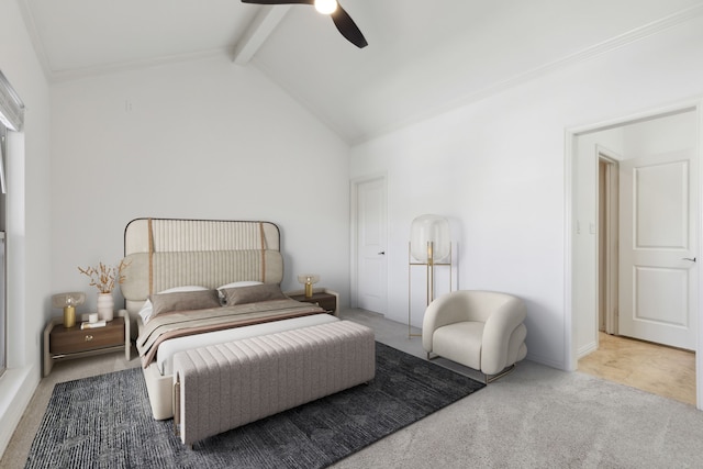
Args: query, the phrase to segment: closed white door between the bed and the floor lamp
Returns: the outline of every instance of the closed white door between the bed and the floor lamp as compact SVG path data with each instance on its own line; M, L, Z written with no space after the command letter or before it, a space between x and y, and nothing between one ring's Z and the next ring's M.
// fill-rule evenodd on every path
M386 178L356 185L356 305L386 313Z

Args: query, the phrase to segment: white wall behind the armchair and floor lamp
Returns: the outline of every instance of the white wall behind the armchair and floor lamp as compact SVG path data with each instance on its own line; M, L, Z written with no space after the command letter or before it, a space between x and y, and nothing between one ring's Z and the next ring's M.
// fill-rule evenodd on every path
M568 369L565 131L703 94L703 21L592 57L353 148L350 177L389 177L389 312L405 321L410 223L462 228L459 286L527 302L531 359Z

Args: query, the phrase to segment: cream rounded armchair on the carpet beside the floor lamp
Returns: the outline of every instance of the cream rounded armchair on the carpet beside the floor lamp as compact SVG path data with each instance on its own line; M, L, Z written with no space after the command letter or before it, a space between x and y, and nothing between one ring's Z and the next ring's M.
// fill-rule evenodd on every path
M525 304L494 291L459 290L434 300L425 311L422 345L432 355L480 370L490 382L527 355Z

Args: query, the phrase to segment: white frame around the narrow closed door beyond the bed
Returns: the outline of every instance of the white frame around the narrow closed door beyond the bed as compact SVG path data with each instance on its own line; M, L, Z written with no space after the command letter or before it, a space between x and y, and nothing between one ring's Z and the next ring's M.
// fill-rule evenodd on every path
M365 176L359 176L349 181L349 305L350 308L358 308L358 294L359 294L359 245L358 245L358 203L357 198L359 194L359 186L382 180L386 188L386 246L388 252L388 172L380 171ZM386 257L388 263L388 256ZM388 312L388 268L386 269L386 308L383 313Z

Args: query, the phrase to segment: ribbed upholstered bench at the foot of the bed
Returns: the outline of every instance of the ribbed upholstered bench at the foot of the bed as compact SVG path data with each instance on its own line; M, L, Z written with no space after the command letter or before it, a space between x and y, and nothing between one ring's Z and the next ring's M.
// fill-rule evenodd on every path
M174 418L185 445L373 379L372 330L320 324L174 356Z

